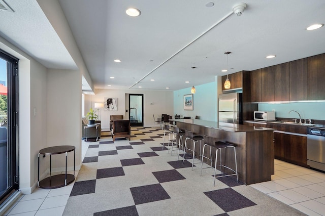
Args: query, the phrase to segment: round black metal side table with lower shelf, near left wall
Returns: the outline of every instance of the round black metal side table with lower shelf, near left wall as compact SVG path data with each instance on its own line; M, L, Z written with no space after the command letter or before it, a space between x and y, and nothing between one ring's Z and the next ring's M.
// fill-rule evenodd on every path
M73 161L73 175L67 174L68 165L68 152L74 151ZM52 155L54 154L66 154L66 174L51 175L52 171ZM40 181L40 155L50 155L50 177L47 177ZM75 165L76 165L76 147L75 146L53 146L41 149L38 154L38 186L45 189L60 188L69 185L75 180Z

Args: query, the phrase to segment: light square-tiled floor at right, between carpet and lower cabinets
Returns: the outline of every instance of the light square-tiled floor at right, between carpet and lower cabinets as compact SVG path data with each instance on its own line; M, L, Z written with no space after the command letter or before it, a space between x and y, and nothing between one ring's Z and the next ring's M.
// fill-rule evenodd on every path
M325 215L325 174L274 160L272 181L250 185L308 215Z

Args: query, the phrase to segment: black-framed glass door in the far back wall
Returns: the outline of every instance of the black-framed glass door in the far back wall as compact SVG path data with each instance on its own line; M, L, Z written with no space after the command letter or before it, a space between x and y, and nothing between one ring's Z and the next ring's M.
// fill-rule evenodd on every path
M143 95L128 95L128 110L131 126L143 126Z

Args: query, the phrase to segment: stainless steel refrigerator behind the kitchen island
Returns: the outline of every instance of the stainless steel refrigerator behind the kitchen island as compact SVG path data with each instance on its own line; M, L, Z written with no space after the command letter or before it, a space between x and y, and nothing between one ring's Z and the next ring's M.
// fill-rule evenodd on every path
M242 93L219 95L218 122L243 124Z

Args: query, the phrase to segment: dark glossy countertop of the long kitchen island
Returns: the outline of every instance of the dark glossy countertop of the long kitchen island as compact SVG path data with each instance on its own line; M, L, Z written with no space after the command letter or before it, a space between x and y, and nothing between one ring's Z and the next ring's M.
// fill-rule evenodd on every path
M275 128L256 127L256 126L233 124L233 123L223 123L223 122L207 121L201 119L173 119L173 121L200 125L200 126L210 127L214 129L220 129L223 131L229 131L229 132L257 132L257 131L275 130Z

